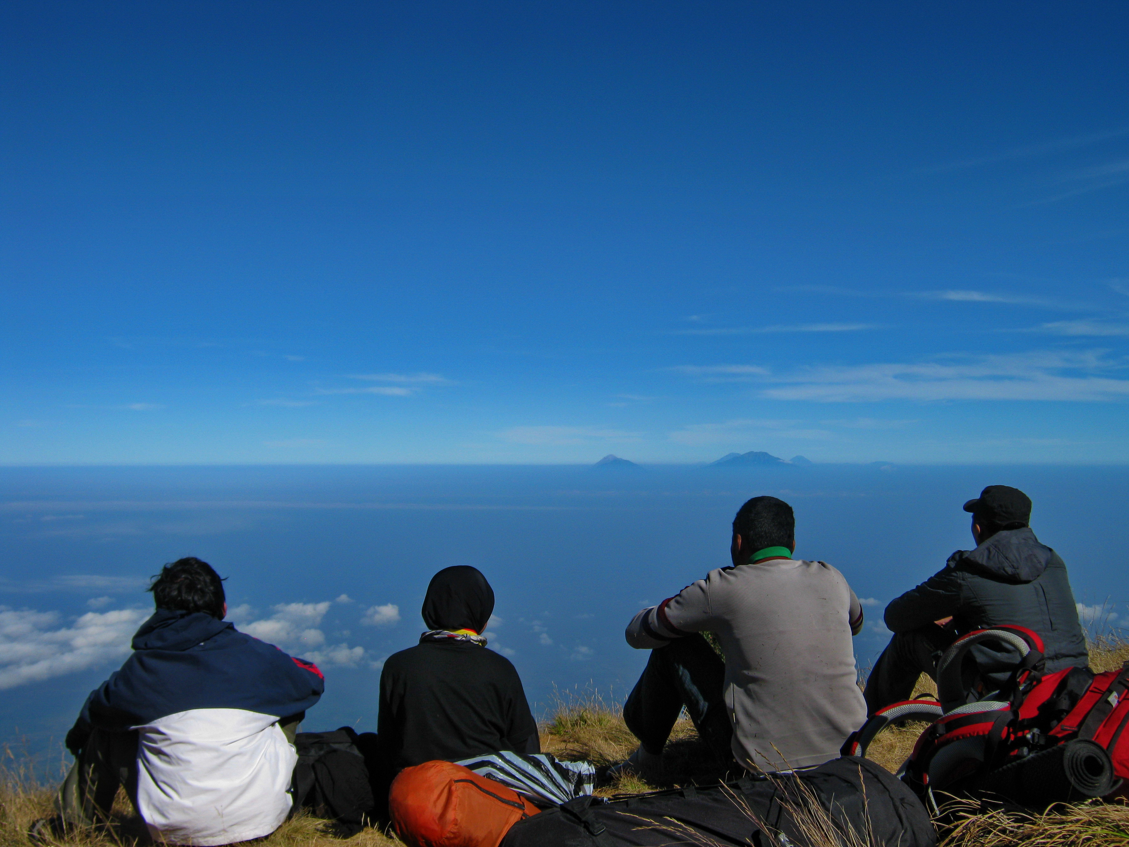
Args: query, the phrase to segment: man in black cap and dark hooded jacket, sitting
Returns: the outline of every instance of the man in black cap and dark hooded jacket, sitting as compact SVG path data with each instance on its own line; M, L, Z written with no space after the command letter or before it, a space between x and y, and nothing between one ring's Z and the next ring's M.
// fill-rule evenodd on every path
M1048 672L1089 663L1066 565L1027 525L1031 499L1017 488L988 486L964 510L972 514L977 549L957 550L939 573L886 606L894 637L866 683L872 715L909 699L918 675L933 675L937 654L975 629L1033 629Z

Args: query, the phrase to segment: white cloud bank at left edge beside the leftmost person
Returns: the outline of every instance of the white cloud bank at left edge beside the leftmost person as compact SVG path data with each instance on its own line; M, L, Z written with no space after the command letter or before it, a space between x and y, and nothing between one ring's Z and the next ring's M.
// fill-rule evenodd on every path
M59 626L58 612L0 606L0 689L85 671L129 655L130 639L152 612L87 612Z

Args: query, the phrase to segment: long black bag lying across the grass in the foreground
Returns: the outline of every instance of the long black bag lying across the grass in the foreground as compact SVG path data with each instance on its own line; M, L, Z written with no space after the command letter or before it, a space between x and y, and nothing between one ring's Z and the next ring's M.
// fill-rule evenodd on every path
M814 815L802 811L813 807ZM709 787L577 797L516 822L501 847L934 847L936 841L913 792L875 762L852 758Z

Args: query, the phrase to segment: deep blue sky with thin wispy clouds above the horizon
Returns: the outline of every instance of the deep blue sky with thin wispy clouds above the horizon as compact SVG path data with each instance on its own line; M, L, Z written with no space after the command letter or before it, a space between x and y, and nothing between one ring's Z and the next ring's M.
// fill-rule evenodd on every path
M1129 461L1129 5L8 2L0 463Z

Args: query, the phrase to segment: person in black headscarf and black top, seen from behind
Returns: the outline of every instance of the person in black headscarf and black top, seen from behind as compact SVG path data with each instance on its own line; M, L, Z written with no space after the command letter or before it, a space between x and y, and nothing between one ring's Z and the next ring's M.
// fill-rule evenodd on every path
M517 670L485 648L493 604L476 568L456 565L431 577L423 599L428 631L380 672L377 737L393 770L499 750L541 752Z

